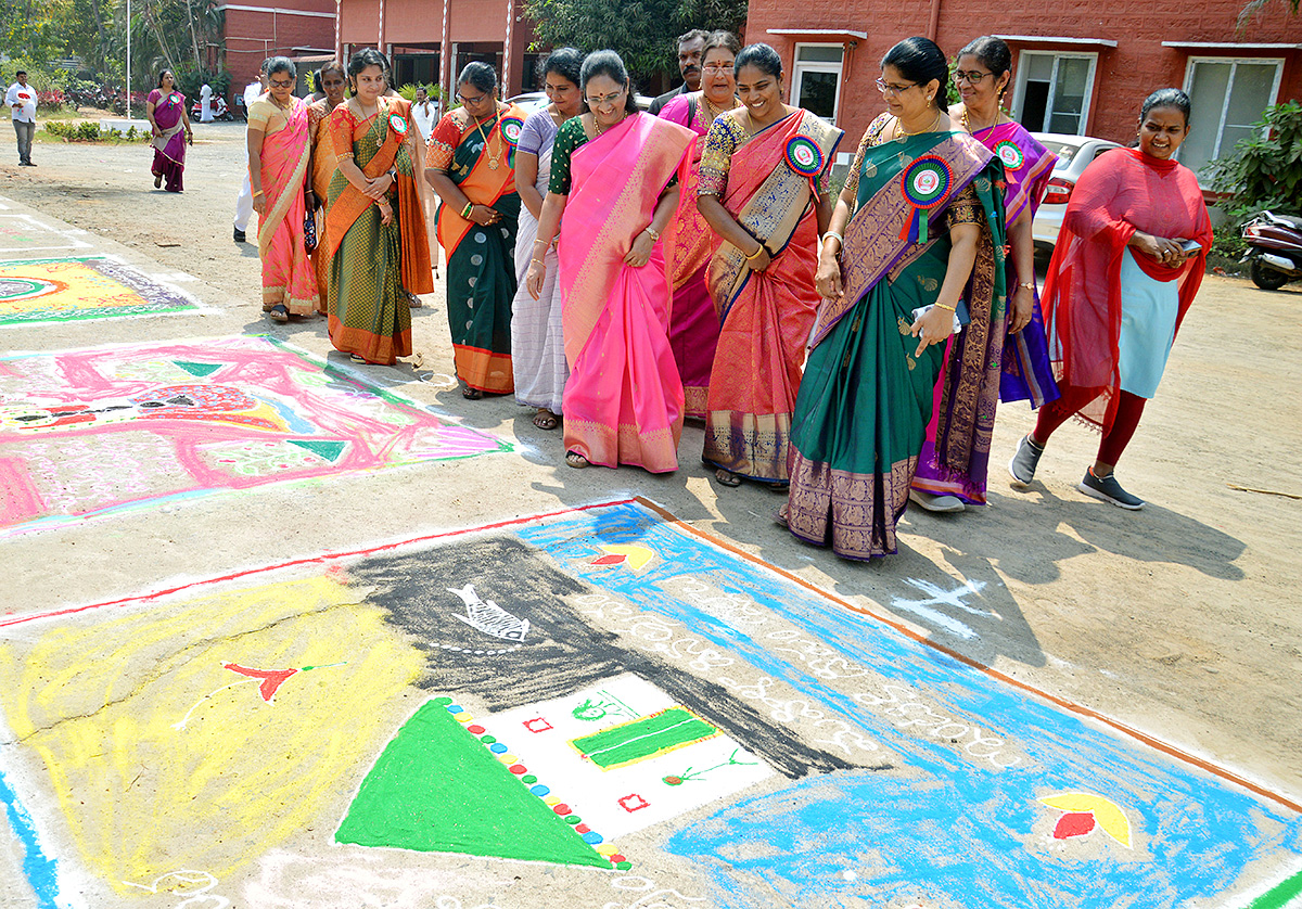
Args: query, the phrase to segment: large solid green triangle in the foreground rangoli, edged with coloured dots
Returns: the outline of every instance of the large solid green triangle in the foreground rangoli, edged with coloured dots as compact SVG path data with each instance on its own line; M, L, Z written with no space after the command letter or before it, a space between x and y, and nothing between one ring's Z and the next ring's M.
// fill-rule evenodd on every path
M335 839L611 867L437 701L421 707L384 749Z

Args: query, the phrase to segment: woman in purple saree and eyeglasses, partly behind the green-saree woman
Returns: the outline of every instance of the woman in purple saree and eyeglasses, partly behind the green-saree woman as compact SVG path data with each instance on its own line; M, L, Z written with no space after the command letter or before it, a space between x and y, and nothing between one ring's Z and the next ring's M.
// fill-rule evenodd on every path
M1004 167L1004 223L1009 255L1005 283L1009 306L1004 318L992 323L984 350L971 349L957 340L947 352L944 372L966 375L965 356L979 358L986 369L973 371L970 388L960 389L960 400L975 400L978 413L992 425L999 401L1030 401L1039 408L1059 396L1044 340L1044 319L1035 296L1035 247L1031 220L1044 198L1057 158L1000 107L1012 82L1013 56L999 38L978 38L958 52L954 83L962 103L949 109L950 119L991 150ZM969 328L967 331L973 331ZM966 505L986 504L990 468L990 432L973 439L975 445L965 470L940 466L936 458L939 410L927 427L927 443L918 461L910 499L932 512L961 512Z

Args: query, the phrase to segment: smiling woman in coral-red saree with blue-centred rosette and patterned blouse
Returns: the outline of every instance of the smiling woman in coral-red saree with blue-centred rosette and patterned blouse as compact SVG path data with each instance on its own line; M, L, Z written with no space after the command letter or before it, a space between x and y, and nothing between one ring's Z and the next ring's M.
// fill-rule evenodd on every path
M768 44L737 56L743 107L710 128L698 207L723 238L710 293L723 328L710 380L703 460L715 478L785 488L792 413L819 294L819 228L832 216L828 172L841 130L783 104Z

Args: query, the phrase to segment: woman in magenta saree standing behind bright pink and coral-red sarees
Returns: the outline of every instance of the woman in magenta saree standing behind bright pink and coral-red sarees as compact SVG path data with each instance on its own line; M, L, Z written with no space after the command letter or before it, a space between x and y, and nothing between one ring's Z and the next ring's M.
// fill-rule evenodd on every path
M710 300L710 288L706 287L706 271L710 257L719 249L719 236L697 211L697 188L700 184L700 152L706 147L706 133L716 117L741 104L733 76L733 61L740 51L741 42L730 31L715 31L706 38L706 47L700 53L704 61L700 91L674 95L660 108L659 115L700 137L691 143L691 151L684 159L684 168L678 175L678 185L682 188L678 211L665 233L665 259L669 262L669 280L673 284L669 348L682 376L686 413L700 419L706 417L710 367L715 362L715 346L719 344L719 316Z

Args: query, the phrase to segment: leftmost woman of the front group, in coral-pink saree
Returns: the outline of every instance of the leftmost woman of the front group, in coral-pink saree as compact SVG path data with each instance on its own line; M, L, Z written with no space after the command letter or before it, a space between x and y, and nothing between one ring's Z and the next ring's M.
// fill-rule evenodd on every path
M311 160L307 103L294 98L294 64L272 57L270 89L249 105L249 180L258 212L262 310L275 322L318 307L316 271L303 242Z

